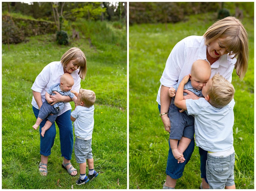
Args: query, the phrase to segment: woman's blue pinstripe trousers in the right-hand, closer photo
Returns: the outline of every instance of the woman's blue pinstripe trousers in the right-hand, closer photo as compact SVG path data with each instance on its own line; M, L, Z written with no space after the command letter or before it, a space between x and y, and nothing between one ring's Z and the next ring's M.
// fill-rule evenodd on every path
M159 104L158 104L158 110L160 113L161 105ZM186 160L183 163L177 163L177 160L173 156L172 149L170 148L170 140L168 142L169 142L169 152L168 152L167 165L166 165L166 174L173 179L178 179L182 177L185 165L188 163L188 161L192 156L192 153L195 148L195 140L194 138L191 139L191 142L188 145L188 148L184 151L183 155ZM179 144L179 140L178 140L178 144ZM200 154L200 162L201 162L200 163L201 178L204 178L205 181L207 182L207 179L206 179L207 151L199 147L199 154Z

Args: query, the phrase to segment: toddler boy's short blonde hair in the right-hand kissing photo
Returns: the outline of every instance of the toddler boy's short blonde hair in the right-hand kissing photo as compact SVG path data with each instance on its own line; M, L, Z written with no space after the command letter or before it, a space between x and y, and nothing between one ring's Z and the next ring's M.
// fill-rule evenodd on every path
M215 108L223 108L234 98L235 89L233 85L219 73L212 78L212 85L207 94L210 97L210 104Z

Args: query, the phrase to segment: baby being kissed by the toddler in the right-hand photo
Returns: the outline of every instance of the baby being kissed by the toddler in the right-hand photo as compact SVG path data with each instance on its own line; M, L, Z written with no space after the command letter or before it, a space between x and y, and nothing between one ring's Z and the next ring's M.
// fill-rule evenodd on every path
M202 87L205 86L211 76L211 66L205 60L196 60L191 67L189 81L185 84L184 89L195 93L198 97L203 97ZM174 97L178 84L169 89L169 96ZM184 93L184 96L187 93ZM191 139L194 138L194 116L188 115L187 111L183 112L174 104L170 105L168 116L171 124L170 148L173 156L179 162L184 162L183 152L188 147ZM182 113L183 112L183 113ZM179 141L179 143L178 143Z

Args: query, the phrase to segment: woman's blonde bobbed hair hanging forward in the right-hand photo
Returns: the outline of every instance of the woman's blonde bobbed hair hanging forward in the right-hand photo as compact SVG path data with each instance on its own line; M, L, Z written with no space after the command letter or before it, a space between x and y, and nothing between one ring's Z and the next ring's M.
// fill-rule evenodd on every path
M243 79L248 68L248 34L243 24L236 17L226 17L211 25L204 34L205 44L209 44L218 38L223 38L221 44L227 47L229 54L237 58L235 64L236 73L240 80Z

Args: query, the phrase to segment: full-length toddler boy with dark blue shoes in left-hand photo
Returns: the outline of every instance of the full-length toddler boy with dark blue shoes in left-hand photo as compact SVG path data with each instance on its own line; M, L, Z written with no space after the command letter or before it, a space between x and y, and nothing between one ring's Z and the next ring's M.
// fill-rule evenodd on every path
M71 121L74 122L76 141L74 152L77 163L80 166L80 177L76 184L85 184L98 176L94 171L92 157L92 130L94 125L93 113L95 93L91 90L80 89L79 93L74 92L77 96L77 106L71 113ZM89 175L86 176L86 161L88 163Z

